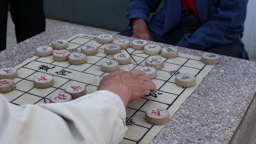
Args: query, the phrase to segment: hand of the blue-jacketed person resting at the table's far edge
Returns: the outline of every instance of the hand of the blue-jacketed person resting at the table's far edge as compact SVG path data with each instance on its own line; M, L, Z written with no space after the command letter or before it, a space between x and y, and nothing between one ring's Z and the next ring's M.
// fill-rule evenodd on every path
M132 37L153 41L153 38L148 31L146 21L144 19L139 19L134 22Z

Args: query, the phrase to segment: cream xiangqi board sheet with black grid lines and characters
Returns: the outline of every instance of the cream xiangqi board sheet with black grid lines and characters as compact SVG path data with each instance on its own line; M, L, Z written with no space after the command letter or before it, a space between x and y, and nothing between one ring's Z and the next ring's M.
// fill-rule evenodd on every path
M11 103L16 105L49 103L50 96L63 93L69 84L85 85L86 94L97 91L100 80L108 74L108 72L101 71L100 64L102 61L113 59L112 55L104 53L104 47L107 44L99 44L97 36L85 34L77 34L68 38L67 41L69 43L67 50L70 53L81 52L83 45L96 45L98 53L88 55L86 62L81 65L73 65L68 61L55 61L52 56L34 56L25 60L15 67L18 72L18 76L13 79L15 89L4 94ZM145 54L143 50L135 50L131 47L122 49L121 52L131 57L130 63L119 67L125 71L145 66L145 60L152 57ZM164 61L164 67L157 70L157 77L152 79L157 85L157 90L146 92L145 96L127 106L128 131L121 144L150 143L165 125L153 125L146 122L146 110L154 107L166 108L171 119L171 116L214 66L203 63L200 57L183 53L179 53L178 57L173 59L163 58L161 55L157 57ZM176 75L187 72L195 75L195 86L185 88L176 85ZM48 74L54 78L54 84L49 88L40 89L34 86L33 79L42 74Z

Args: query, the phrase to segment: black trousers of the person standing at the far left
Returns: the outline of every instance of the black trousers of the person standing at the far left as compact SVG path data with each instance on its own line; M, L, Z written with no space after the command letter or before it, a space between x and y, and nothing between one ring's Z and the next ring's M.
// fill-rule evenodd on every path
M0 0L0 51L6 48L8 5L17 43L45 31L43 0Z

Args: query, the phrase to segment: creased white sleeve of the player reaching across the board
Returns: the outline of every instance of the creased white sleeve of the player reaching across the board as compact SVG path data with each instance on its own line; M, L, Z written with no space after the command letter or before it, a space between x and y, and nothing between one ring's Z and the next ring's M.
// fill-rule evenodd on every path
M121 98L110 91L22 106L0 95L0 144L118 144L127 131L125 118Z

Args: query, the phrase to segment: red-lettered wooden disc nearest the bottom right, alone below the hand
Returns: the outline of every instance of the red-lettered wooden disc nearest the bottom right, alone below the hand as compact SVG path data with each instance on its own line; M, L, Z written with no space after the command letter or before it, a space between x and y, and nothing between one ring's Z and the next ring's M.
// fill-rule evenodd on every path
M170 119L169 111L165 108L149 108L146 111L145 119L151 124L165 124Z

